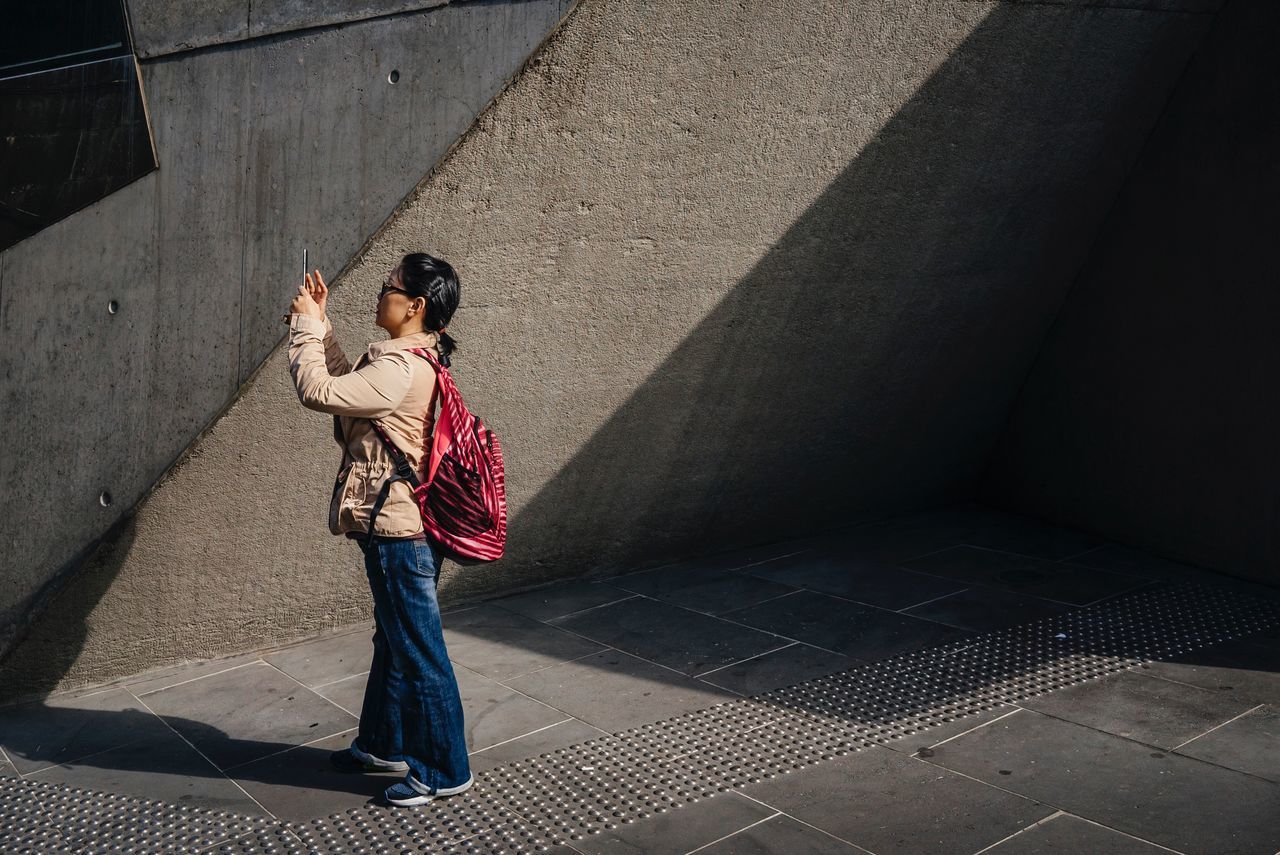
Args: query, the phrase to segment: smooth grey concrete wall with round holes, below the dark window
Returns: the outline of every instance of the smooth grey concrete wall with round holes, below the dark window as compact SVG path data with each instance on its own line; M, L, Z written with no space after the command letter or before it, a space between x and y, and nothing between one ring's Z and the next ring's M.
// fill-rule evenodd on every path
M0 653L280 342L302 247L347 265L567 6L454 5L142 64L159 172L0 253Z

